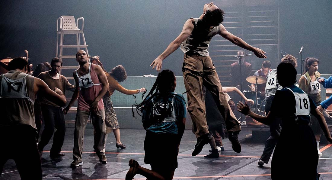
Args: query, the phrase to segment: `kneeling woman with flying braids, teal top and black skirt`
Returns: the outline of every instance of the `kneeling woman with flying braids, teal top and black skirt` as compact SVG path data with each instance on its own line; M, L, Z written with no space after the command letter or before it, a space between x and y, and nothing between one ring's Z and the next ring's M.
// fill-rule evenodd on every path
M143 102L134 105L142 112L146 130L144 162L151 165L151 170L131 159L126 180L131 180L135 174L147 179L173 179L187 112L185 99L182 94L174 92L175 87L174 73L163 70Z

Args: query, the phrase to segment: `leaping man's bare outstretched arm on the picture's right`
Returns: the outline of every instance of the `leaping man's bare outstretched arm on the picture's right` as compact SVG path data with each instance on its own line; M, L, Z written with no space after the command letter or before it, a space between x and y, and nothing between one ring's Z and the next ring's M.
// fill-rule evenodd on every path
M231 43L241 48L244 48L248 51L252 51L259 58L266 58L265 52L263 50L250 46L248 43L244 42L241 38L234 36L232 33L228 32L222 24L220 24L220 26L221 26L219 31L220 36L222 36L223 38L227 39Z

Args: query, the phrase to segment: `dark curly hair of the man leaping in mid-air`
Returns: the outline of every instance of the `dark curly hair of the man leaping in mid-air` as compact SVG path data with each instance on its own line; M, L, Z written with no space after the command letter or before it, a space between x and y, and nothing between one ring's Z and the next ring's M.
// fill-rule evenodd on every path
M225 12L219 8L211 11L207 10L203 16L203 22L210 26L218 26L224 21Z

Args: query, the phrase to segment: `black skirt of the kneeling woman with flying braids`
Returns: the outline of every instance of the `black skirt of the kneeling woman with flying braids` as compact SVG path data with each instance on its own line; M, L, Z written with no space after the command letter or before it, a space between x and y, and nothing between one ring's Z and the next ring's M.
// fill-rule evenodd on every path
M146 131L144 162L172 170L178 168L178 134Z

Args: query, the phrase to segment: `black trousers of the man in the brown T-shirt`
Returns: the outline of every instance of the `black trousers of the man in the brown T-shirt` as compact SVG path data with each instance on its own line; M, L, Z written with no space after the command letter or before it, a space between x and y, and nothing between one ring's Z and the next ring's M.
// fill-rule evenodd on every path
M63 145L64 135L66 132L64 115L61 107L51 106L47 104L41 104L41 113L44 119L44 130L41 133L41 140L38 144L38 149L42 151L51 139L54 128L53 145L50 150L50 154L61 152Z

